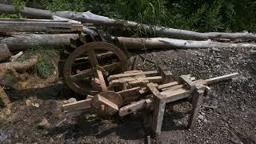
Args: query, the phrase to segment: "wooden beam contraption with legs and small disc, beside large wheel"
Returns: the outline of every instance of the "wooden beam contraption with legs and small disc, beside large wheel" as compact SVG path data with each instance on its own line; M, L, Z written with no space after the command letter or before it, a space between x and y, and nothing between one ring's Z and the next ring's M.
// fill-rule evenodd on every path
M103 85L107 90L85 100L63 105L66 116L76 117L86 113L103 116L118 114L123 117L141 110L146 126L152 134L161 134L165 106L170 102L188 101L193 110L189 121L190 128L195 126L202 97L210 94L209 85L230 80L238 73L221 77L195 80L190 74L182 75L175 80L174 75L166 70L142 71L130 70L122 74L110 75Z

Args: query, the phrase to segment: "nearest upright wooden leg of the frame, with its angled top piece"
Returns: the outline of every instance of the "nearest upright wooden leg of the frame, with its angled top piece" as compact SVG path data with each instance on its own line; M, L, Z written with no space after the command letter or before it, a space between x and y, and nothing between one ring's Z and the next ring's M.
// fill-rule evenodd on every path
M154 83L149 83L146 86L150 92L154 94L154 111L151 129L153 130L154 136L158 137L160 136L162 129L162 119L166 107L166 95L160 94L155 88Z

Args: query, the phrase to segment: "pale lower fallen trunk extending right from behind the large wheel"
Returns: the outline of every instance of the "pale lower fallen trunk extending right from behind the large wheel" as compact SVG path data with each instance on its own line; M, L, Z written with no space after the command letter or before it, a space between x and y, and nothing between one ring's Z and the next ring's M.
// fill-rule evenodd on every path
M114 42L119 42L128 50L141 49L201 49L201 48L238 48L238 47L256 47L253 43L224 43L207 41L191 41L174 38L114 38Z

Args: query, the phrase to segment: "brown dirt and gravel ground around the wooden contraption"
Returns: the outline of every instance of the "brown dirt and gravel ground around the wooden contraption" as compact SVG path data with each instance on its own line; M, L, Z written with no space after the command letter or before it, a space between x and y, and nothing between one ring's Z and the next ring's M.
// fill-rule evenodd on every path
M186 128L190 105L166 106L162 134L154 143L256 143L256 50L204 49L148 51L152 68L138 58L137 68L167 66L174 75L192 74L211 78L238 72L233 82L212 85L212 95L203 98L194 130ZM132 58L131 58L132 59ZM10 115L0 116L0 143L144 143L140 114L124 118L65 119L63 101L75 97L62 82L6 90L13 102ZM79 98L78 98L79 99ZM82 98L80 98L82 99ZM38 129L46 118L51 126Z

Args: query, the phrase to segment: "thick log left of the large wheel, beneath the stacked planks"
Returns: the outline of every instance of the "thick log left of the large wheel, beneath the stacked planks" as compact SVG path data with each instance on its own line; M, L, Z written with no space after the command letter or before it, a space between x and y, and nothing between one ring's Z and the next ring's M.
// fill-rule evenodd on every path
M78 34L22 34L0 39L0 44L6 44L10 51L26 50L33 46L56 46L63 48L70 44L70 38L78 38Z

